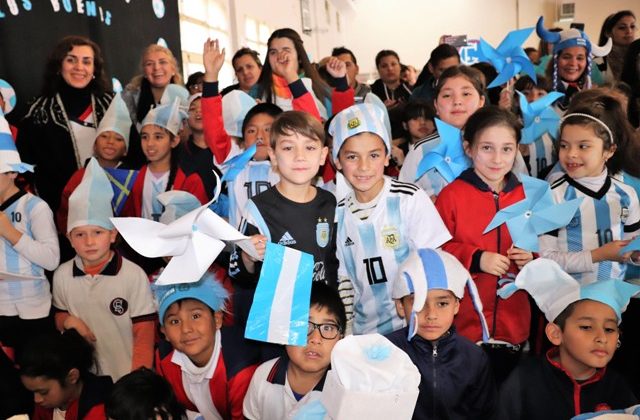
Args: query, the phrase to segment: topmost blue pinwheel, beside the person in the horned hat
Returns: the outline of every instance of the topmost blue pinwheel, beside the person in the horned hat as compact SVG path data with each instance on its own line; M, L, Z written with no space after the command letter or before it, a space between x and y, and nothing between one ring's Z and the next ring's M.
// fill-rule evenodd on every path
M522 49L522 43L529 38L533 29L525 28L509 32L498 48L493 48L487 41L480 38L482 61L491 62L498 71L498 76L489 84L489 88L507 83L521 71L528 74L534 81L536 80L536 69Z

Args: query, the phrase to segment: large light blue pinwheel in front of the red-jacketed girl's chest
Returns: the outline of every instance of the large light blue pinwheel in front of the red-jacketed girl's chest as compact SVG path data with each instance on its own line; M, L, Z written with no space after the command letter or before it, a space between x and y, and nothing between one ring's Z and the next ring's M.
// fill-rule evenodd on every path
M521 175L525 199L500 210L483 233L507 224L513 244L538 251L538 236L569 224L583 197L555 204L546 181Z

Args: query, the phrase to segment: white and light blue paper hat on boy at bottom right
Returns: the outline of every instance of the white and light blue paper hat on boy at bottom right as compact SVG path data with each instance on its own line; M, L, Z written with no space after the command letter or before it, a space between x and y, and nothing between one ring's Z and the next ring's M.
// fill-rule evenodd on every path
M620 323L629 299L640 293L640 286L622 280L601 280L581 285L558 263L546 258L529 262L515 281L500 289L498 294L508 298L518 289L526 290L535 299L549 322L554 322L572 303L589 299L611 307Z

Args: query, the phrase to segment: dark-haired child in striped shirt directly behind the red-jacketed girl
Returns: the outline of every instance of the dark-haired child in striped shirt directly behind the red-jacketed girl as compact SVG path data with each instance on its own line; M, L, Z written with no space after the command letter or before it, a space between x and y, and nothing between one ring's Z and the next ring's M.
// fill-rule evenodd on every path
M481 74L466 66L450 67L445 70L436 85L434 106L438 118L449 125L462 129L467 119L484 105ZM440 144L440 136L434 133L409 147L398 179L415 182L435 200L447 181L435 169L427 171L420 179L416 172L422 157Z

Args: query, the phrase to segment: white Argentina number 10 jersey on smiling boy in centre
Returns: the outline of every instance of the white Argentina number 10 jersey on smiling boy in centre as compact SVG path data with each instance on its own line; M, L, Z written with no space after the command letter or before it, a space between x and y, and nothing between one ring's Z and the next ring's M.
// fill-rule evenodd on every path
M350 193L352 194L352 193ZM378 204L366 220L336 209L339 277L354 288L354 334L390 333L404 326L391 299L399 265L414 248L437 248L451 239L429 197L414 184L385 177Z

